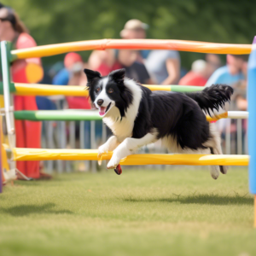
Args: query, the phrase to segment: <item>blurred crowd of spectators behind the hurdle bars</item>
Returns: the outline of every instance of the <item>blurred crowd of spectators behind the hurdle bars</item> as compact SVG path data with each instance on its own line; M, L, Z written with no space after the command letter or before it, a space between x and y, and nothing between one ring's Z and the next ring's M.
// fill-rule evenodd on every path
M143 39L147 37L148 25L141 20L128 20L120 32L123 39ZM13 49L36 46L26 26L13 9L0 5L0 40L12 42ZM68 53L63 63L57 63L44 76L49 84L85 86L84 68L96 70L102 76L111 71L125 68L125 74L141 84L180 84L210 86L229 84L234 87L232 110L247 110L247 55L227 55L223 65L219 55L207 54L205 59L192 63L191 70L183 72L181 58L177 50L94 50L87 61L78 53ZM12 79L20 83L40 83L43 67L39 58L15 61L11 67ZM32 75L28 75L28 73ZM67 108L90 109L90 100L83 96L68 96ZM55 109L55 102L46 97L15 96L15 110ZM246 125L246 124L245 124ZM86 129L90 129L87 127ZM19 148L40 148L41 123L15 120L16 145ZM39 172L39 162L17 162L17 168L28 177L44 177Z

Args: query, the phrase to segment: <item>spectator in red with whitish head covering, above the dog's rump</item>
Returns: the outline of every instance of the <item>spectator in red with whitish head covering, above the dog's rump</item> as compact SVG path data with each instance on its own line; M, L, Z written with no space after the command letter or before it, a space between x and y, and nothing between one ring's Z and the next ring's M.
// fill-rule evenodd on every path
M207 84L207 61L197 60L192 63L191 71L179 81L179 85L204 86Z

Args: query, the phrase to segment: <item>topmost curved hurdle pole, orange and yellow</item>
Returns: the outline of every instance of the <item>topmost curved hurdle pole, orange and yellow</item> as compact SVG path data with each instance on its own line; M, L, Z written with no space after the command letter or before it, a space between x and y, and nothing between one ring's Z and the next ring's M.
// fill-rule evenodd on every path
M12 60L59 55L70 51L92 49L175 49L215 54L250 54L251 44L216 44L185 40L160 39L101 39L64 44L49 44L11 51Z

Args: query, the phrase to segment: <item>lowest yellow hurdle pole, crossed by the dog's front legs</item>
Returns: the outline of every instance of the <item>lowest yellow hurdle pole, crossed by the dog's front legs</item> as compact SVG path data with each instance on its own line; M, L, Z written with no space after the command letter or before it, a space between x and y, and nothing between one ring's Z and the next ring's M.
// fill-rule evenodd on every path
M99 160L96 149L14 148L14 160ZM103 154L110 160L112 153ZM121 165L248 166L248 155L232 154L132 154Z

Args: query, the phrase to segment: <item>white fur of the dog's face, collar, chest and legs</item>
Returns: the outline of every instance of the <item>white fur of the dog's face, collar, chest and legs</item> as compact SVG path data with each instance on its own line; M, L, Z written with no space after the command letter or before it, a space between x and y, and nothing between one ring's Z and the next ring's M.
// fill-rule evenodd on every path
M119 165L120 160L124 159L126 156L132 154L138 148L143 147L149 143L155 143L157 137L157 131L146 134L144 137L136 139L131 138L132 130L134 126L134 121L137 117L138 108L142 99L142 90L137 84L130 79L125 79L125 86L127 86L133 94L133 102L131 106L127 109L125 117L122 121L117 121L119 119L119 109L114 106L114 102L108 97L106 93L106 84L108 84L108 78L103 81L102 92L96 97L95 104L97 105L97 100L102 99L104 101L103 107L107 107L111 102L111 108L108 110L103 117L103 121L108 127L113 131L115 136L108 139L107 143L99 147L99 156L108 151L113 151L113 156L108 162L108 168L115 168ZM172 153L180 154L211 154L210 148L213 148L214 154L223 154L220 146L220 137L218 131L215 128L215 124L210 125L210 131L212 138L208 140L204 146L209 147L206 149L183 149L177 146L177 142L174 138L168 136L162 139L162 144L166 146ZM228 167L223 166L224 173L227 172ZM219 176L219 166L211 166L211 176L217 179Z

